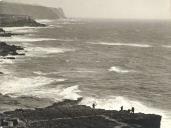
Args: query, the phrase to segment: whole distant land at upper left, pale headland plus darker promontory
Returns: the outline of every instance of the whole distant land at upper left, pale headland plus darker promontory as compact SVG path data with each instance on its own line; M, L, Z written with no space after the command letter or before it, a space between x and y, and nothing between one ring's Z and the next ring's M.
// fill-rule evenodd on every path
M0 27L45 26L35 19L66 18L61 8L0 1Z

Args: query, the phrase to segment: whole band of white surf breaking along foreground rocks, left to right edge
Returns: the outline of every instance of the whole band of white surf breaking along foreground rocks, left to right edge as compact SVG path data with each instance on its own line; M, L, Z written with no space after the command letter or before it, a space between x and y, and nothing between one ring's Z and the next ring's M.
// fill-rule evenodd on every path
M54 82L65 81L65 79L52 79L46 77L30 77L30 78L17 78L8 77L5 80L0 80L0 92L12 97L37 97L37 98L48 98L54 102L61 101L63 99L76 100L81 97L81 90L78 85L66 87L64 85L58 85L50 88L47 85L51 85ZM97 104L97 108L106 110L119 110L121 106L124 109L130 109L135 107L135 112L143 112L147 114L159 114L163 116L162 128L168 128L170 126L167 112L147 107L139 101L134 101L121 96L109 96L103 98L84 96L81 105L91 106L92 103Z

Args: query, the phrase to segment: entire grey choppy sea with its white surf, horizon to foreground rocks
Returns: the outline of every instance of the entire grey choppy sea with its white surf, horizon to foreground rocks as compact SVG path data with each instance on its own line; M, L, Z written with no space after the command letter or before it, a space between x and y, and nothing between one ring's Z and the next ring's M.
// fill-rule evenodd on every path
M0 41L26 55L0 59L0 111L83 97L87 106L160 114L171 128L170 21L38 21L48 26L4 28L24 34Z

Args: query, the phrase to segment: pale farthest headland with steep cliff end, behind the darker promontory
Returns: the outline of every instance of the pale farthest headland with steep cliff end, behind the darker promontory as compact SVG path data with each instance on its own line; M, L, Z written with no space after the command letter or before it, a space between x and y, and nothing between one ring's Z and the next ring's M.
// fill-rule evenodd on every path
M37 5L0 2L0 14L27 15L33 19L65 18L61 8L50 8Z

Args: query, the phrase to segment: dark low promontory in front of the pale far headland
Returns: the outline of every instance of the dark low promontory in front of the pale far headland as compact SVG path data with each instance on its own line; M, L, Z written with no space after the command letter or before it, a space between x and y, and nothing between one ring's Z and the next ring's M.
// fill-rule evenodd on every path
M33 20L30 16L26 15L8 15L0 14L1 27L22 27L22 26L45 26Z

